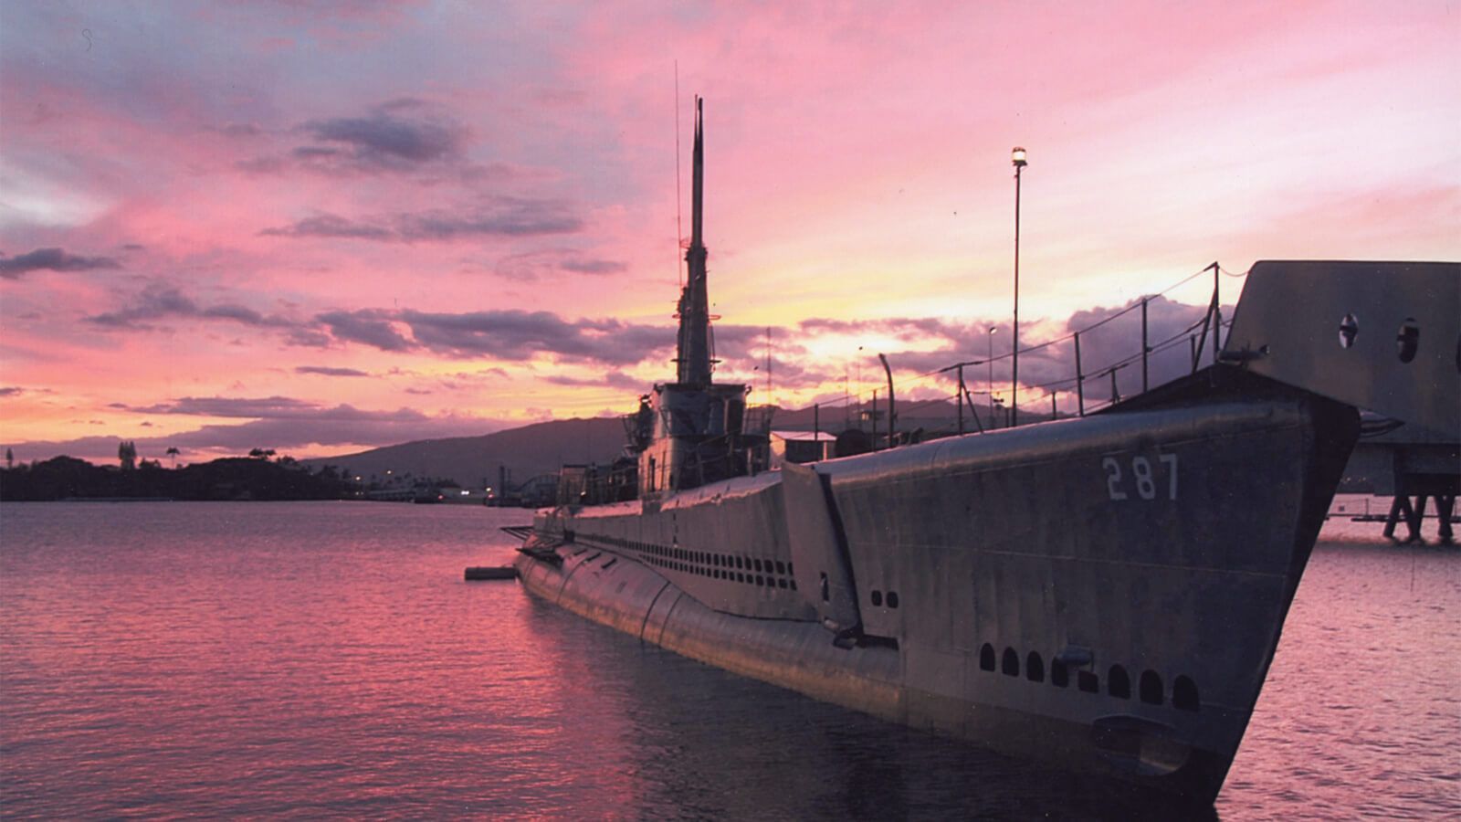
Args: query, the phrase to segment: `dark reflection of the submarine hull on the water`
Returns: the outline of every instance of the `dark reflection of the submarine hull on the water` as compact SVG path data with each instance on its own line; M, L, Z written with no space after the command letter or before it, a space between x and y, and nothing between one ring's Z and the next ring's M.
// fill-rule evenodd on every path
M561 766L596 778L605 766L599 744L628 761L624 775L634 785L633 803L611 815L1194 818L1189 807L1157 807L1122 785L974 750L729 676L542 603L529 608L527 625L545 648L570 651L561 674L577 679L561 693L583 706L587 721L574 733L595 740ZM624 717L631 736L603 739L593 725L605 715ZM1216 815L1207 809L1195 818Z

